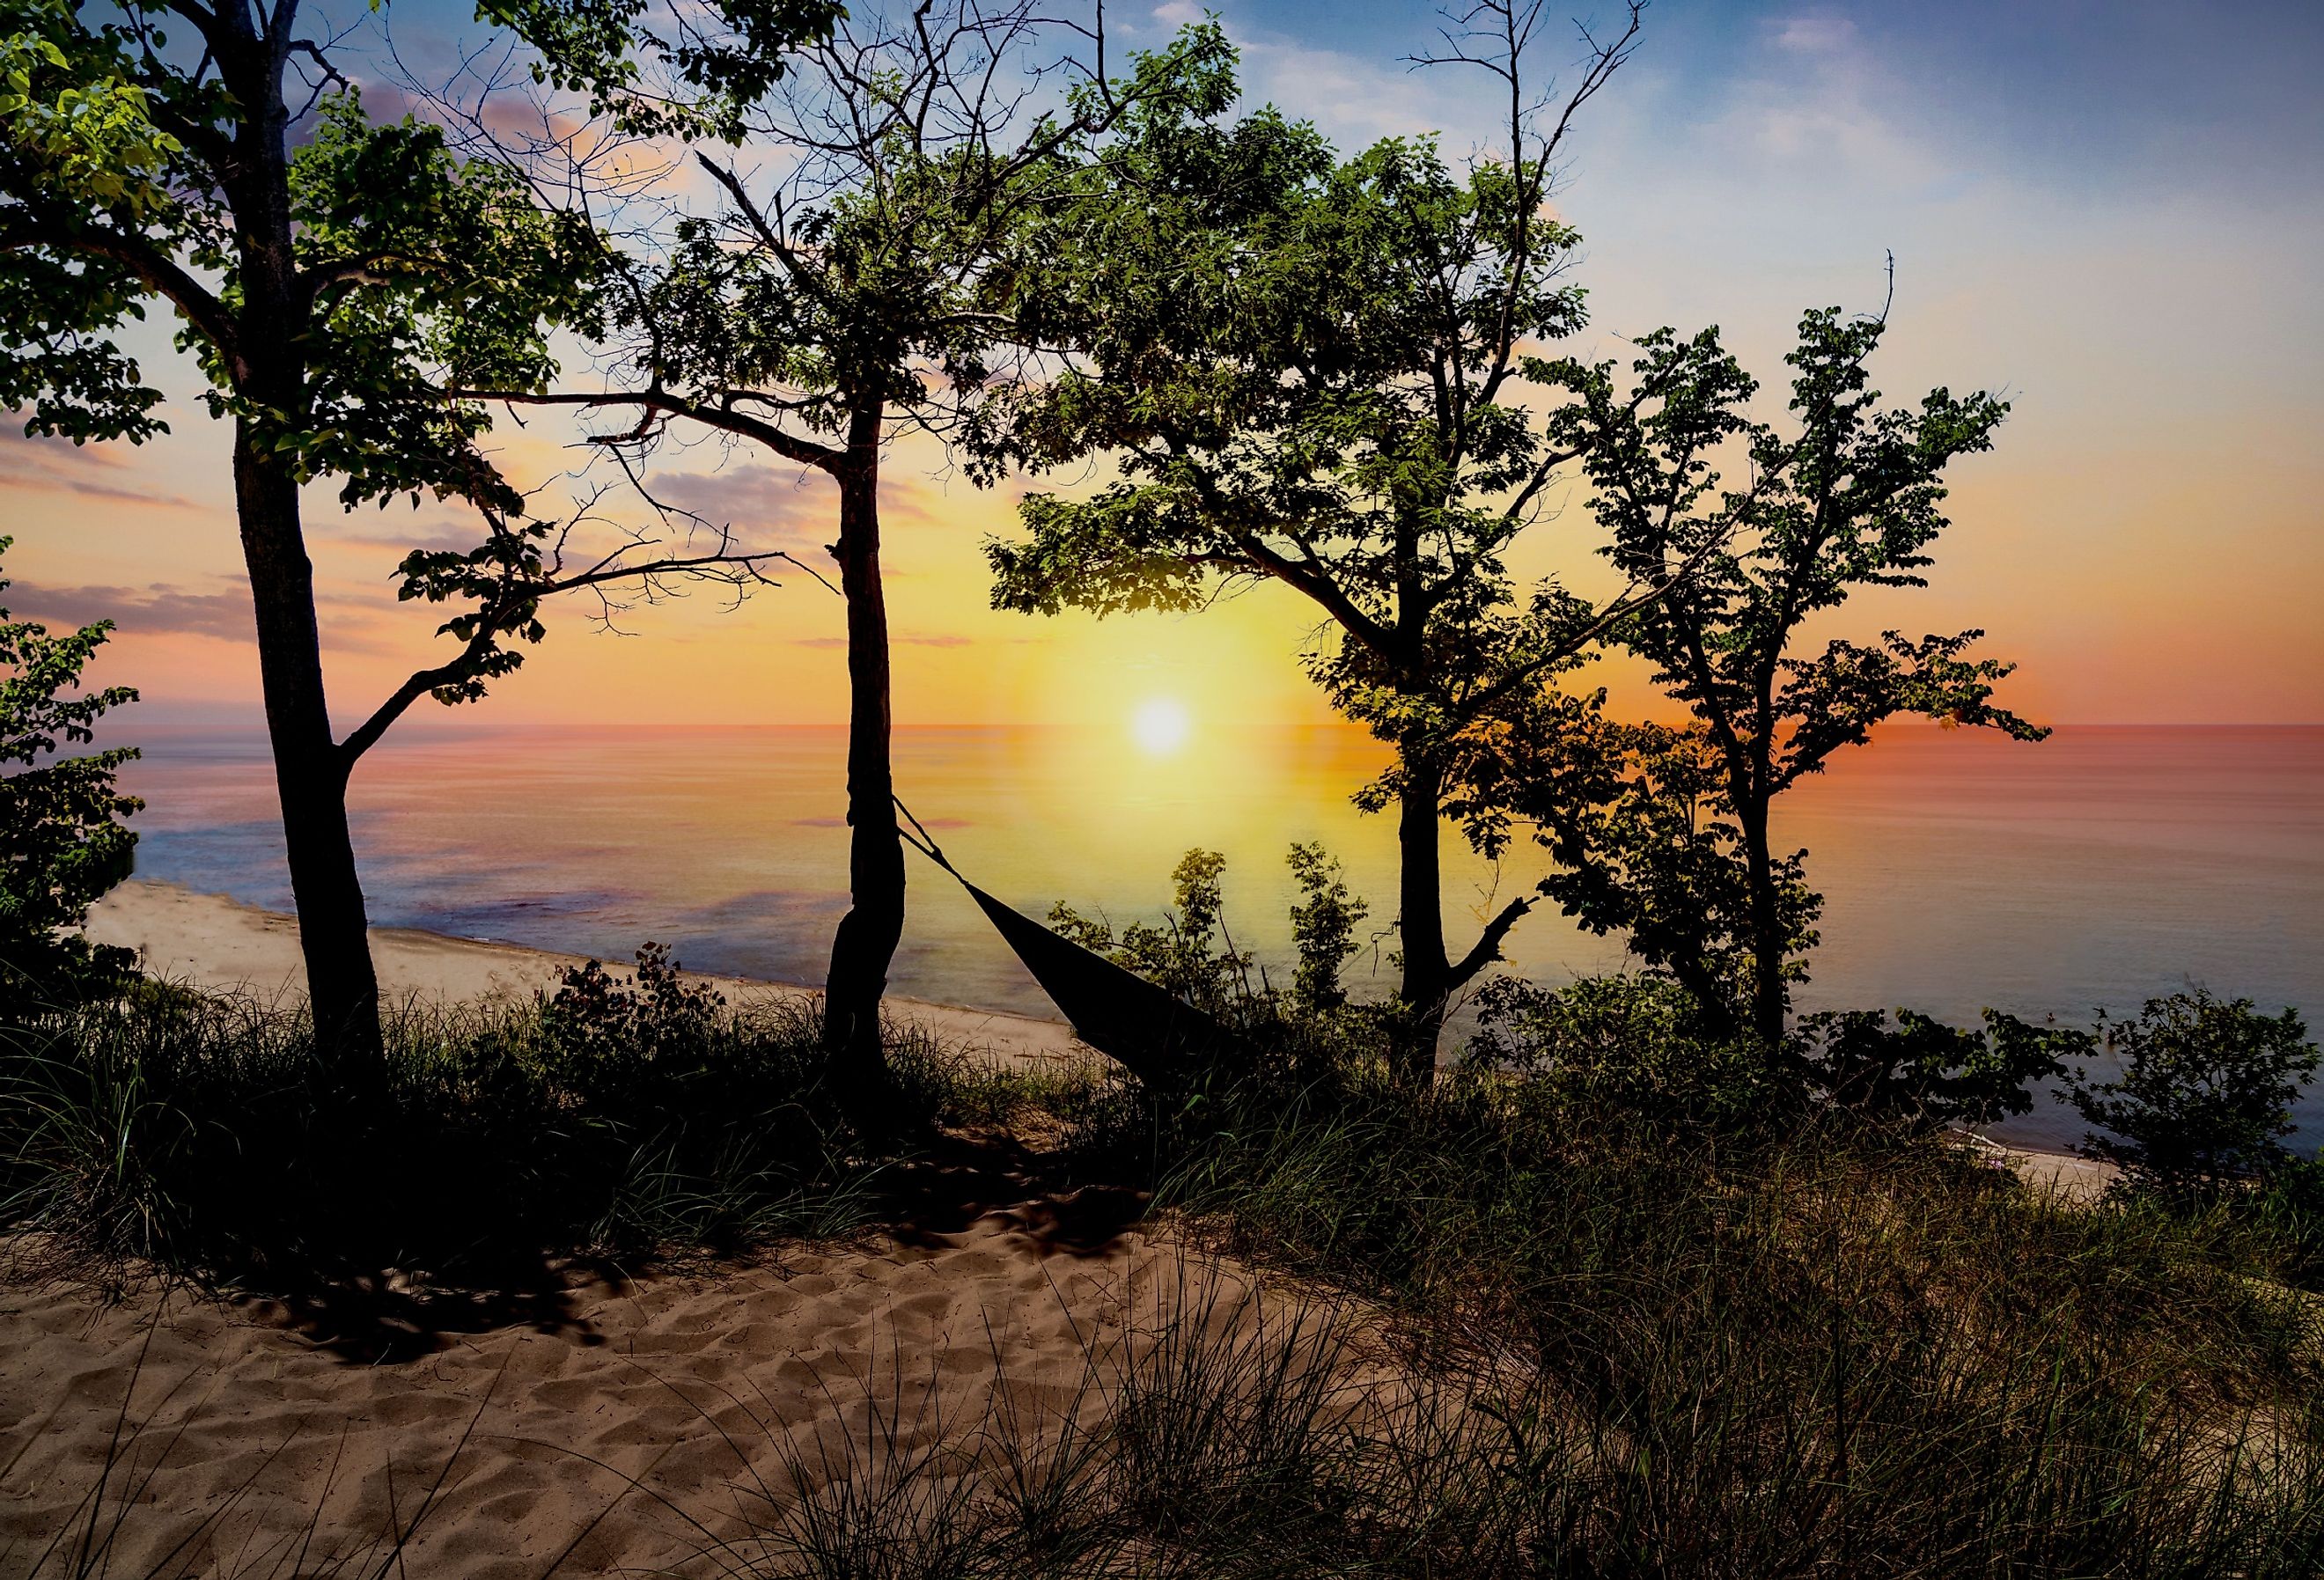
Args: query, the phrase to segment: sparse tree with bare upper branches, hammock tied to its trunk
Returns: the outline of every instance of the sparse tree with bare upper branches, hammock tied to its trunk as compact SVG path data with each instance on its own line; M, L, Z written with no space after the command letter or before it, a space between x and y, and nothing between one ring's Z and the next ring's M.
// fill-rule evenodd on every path
M1095 65L1048 60L1060 40L1092 46ZM878 500L888 446L904 432L955 437L983 397L1016 344L1018 293L995 265L1057 174L1132 107L1220 107L1222 51L1215 28L1192 28L1111 81L1102 26L1053 23L1032 5L851 14L744 116L779 174L697 151L716 211L618 263L611 390L472 390L637 411L595 437L625 458L693 425L832 479L853 832L825 1043L855 1090L883 1080L878 1006L904 927ZM1034 114L1032 93L1053 74L1069 81L1062 109Z

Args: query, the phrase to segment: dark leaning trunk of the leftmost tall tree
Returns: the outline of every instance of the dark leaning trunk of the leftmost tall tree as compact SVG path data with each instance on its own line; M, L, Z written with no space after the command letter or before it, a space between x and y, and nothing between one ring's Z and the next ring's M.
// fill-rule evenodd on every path
M235 504L316 1050L335 1064L365 1064L381 1053L379 978L346 832L346 767L323 697L314 565L300 534L297 481L260 453L246 418L235 425Z

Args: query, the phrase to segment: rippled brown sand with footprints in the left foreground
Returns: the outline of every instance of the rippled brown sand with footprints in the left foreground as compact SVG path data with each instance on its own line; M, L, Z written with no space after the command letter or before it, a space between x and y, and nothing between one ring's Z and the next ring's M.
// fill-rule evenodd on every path
M363 1552L349 1568L381 1573L383 1534L439 1475L388 1573L530 1580L560 1554L560 1575L725 1573L704 1547L765 1527L753 1489L790 1499L786 1448L818 1466L890 1427L904 1452L957 1443L997 1394L1020 1422L1088 1417L1085 1380L1104 1385L1125 1334L1178 1313L1260 1336L1283 1310L1297 1301L1234 1266L1139 1236L1071 1250L1009 1213L716 1280L576 1278L530 1324L444 1331L386 1364L272 1301L100 1306L0 1283L0 1573L146 1575L181 1543L184 1573L342 1573L330 1561ZM95 1522L119 1517L109 1566L35 1568L86 1527L121 1422Z

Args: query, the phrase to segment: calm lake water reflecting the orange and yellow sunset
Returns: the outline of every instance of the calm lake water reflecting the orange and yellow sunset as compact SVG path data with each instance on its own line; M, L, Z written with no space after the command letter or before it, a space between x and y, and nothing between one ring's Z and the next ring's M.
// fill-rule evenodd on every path
M288 909L265 741L139 739L123 776L149 802L139 874ZM837 730L390 739L353 783L372 920L609 957L660 939L706 971L818 983L846 909L841 762ZM1206 846L1227 857L1236 943L1271 962L1294 839L1325 841L1373 918L1392 913L1394 832L1348 804L1378 764L1350 730L1211 732L1162 755L1064 730L897 732L902 795L981 888L1034 915L1067 899L1150 918L1178 855ZM2324 1018L2324 727L2068 727L2040 746L1889 730L1787 799L1780 836L1827 895L1810 1008L2080 1020L2203 983ZM906 860L895 990L1053 1013L960 888ZM1536 876L1529 848L1448 862L1452 948ZM1538 911L1508 955L1536 981L1622 964L1618 941ZM1373 955L1353 976L1392 981ZM2324 1094L2301 1118L2324 1139ZM2038 1113L2013 1132L2080 1127Z

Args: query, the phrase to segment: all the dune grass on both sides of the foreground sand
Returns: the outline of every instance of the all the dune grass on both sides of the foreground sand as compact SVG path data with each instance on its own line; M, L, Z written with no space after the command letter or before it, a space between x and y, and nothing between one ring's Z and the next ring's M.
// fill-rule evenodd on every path
M681 1006L683 1008L683 1006ZM702 1011L702 1013L695 1013ZM723 1252L890 1211L813 1027L404 1015L383 1090L181 992L9 1032L7 1218L218 1280ZM672 1032L672 1025L679 1032ZM734 1575L2312 1575L2312 1213L2078 1206L1931 1139L1690 1122L1538 1073L1397 1085L1353 1036L1169 1104L895 1048L895 1111L1290 1278L1271 1322L1092 1348L1067 1403L786 1448ZM897 1396L899 1399L899 1396ZM885 1424L883 1424L885 1422Z

